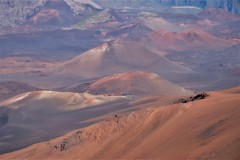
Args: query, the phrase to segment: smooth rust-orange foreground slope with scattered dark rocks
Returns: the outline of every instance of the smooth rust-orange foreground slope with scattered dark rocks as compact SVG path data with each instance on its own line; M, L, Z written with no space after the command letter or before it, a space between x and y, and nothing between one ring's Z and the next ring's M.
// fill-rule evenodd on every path
M116 115L0 158L239 159L240 94L232 91Z

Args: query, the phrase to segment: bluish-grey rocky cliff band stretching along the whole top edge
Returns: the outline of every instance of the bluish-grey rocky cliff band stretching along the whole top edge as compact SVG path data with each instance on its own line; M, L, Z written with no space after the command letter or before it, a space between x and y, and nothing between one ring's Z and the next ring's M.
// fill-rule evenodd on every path
M28 18L40 12L47 2L65 3L73 16L103 8L148 9L161 12L164 6L222 8L240 14L239 0L0 0L0 27L24 24Z

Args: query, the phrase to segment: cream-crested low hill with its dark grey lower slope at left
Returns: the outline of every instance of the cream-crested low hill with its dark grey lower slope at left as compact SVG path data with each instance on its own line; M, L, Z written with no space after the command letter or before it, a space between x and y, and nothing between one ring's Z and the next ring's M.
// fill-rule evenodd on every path
M0 102L0 154L46 141L124 107L124 96L34 91ZM124 105L123 105L124 104Z

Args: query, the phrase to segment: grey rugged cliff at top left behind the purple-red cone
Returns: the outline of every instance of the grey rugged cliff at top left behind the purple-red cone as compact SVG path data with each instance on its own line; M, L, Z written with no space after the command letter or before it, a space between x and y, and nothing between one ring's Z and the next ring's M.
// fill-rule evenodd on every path
M57 10L62 10L62 6L57 3L69 7L72 10L72 16L88 14L101 9L90 0L0 0L0 27L24 24L28 18L44 10L45 5L47 8L56 5L59 6ZM49 4L51 5L49 6Z

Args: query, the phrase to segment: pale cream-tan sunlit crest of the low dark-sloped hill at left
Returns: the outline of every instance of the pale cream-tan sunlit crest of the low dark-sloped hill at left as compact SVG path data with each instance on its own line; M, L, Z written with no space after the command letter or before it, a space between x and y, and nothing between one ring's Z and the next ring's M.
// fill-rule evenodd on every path
M33 91L27 92L0 103L1 106L10 108L19 108L21 106L39 106L60 110L76 110L84 107L106 104L116 101L123 96L103 96L91 95L89 93L71 93L71 92L54 92L54 91Z

